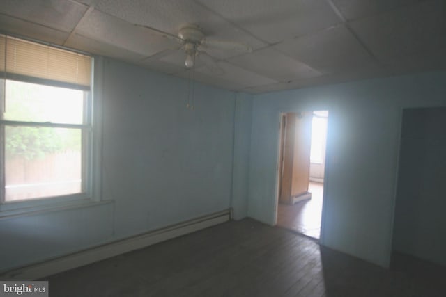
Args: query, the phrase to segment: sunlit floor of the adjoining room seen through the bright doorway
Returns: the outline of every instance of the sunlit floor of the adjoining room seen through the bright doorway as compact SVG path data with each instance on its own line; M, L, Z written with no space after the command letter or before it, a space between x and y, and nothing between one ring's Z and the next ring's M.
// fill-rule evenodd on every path
M310 200L300 201L294 205L279 203L277 207L277 225L319 239L321 233L323 184L310 182L308 191L312 193L312 199Z

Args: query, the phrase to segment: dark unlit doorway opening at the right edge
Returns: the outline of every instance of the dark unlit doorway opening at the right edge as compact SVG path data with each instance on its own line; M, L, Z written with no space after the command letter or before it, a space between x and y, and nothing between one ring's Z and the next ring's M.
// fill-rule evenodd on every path
M402 115L392 258L446 265L446 107Z

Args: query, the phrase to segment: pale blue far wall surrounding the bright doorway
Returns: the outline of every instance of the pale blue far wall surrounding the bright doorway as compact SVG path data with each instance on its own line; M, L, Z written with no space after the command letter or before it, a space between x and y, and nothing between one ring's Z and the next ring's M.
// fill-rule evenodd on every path
M445 73L254 96L248 216L274 223L279 114L327 109L328 168L321 243L387 266L402 109L445 105Z

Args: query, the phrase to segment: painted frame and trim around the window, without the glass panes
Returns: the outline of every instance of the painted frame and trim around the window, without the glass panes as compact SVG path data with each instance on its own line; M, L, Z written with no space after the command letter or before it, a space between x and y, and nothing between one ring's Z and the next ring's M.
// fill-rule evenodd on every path
M14 36L17 38L21 38L23 40L40 43L42 45L54 46L50 45L46 42L40 42L38 40L33 40L29 38L23 38L21 36ZM60 83L57 81L52 81L49 79L41 79L41 78L33 78L33 77L15 77L15 79L10 79L5 72L3 72L3 77L0 79L5 79L5 81L1 81L4 83L3 86L6 86L6 79L14 80L14 81L24 81L27 83L37 83L40 85L47 86L56 86L59 88L71 88L84 90L84 119L82 124L61 124L61 123L52 123L52 122L26 122L26 121L14 121L14 120L4 120L0 118L0 218L3 216L10 216L16 214L27 214L29 212L47 210L47 209L60 209L60 207L77 207L79 204L88 204L99 202L100 199L100 186L98 182L100 182L100 130L101 127L98 125L100 123L100 109L98 108L98 100L100 97L100 91L95 90L94 81L95 81L95 64L96 58L91 54L77 51L73 49L69 49L66 47L59 47L59 49L65 49L67 51L72 51L75 53L83 54L89 56L91 58L91 84L90 89L85 90L84 88L75 88L71 84ZM102 58L98 58L99 62L102 64ZM1 74L1 73L0 73ZM102 72L100 72L102 75ZM6 90L3 88L3 94L0 94L0 109L1 113L3 113L3 100L6 98ZM98 118L96 118L98 115ZM6 201L6 182L5 182L5 128L10 126L16 127L64 127L64 128L73 128L73 129L81 129L82 135L82 191L81 193L74 193L68 195L55 195L50 197L43 198L31 198L26 200L15 200L15 201Z

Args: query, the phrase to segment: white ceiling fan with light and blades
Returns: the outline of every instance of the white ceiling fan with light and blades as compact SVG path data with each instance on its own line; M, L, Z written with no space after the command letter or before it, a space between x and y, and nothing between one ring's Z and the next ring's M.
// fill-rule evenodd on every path
M180 46L175 47L174 49L181 49L185 52L186 58L184 65L188 69L192 69L195 65L196 58L199 58L206 64L211 72L214 74L222 74L222 68L215 62L215 59L208 54L209 50L223 49L237 51L239 53L249 53L252 51L252 47L243 42L208 39L201 28L196 24L185 24L181 26L178 30L178 35L163 32L148 26L144 27L160 33L165 38L180 42Z

